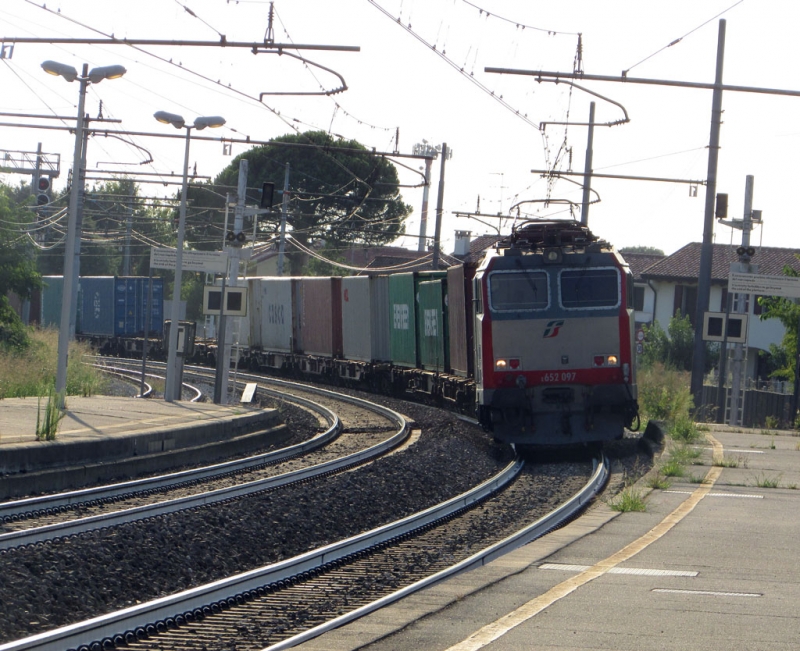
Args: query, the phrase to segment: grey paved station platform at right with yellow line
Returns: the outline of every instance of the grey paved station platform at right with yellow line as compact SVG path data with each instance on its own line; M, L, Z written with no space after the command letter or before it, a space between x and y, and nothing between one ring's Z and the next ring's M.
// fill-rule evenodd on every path
M800 438L706 436L703 465L666 489L637 483L645 512L598 502L483 568L295 648L800 648Z

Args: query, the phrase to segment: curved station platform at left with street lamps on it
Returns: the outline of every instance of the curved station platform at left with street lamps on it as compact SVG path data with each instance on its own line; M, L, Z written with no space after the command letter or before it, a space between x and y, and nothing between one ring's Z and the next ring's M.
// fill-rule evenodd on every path
M278 443L274 409L69 396L56 438L36 438L46 401L0 400L0 499L211 462Z

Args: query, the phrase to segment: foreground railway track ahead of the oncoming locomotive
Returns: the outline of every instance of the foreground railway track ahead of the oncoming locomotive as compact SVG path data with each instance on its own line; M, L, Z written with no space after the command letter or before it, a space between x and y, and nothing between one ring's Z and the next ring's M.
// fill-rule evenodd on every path
M607 475L604 459L571 476L556 467L523 469L515 461L475 489L413 516L0 651L289 648L546 533L574 517Z

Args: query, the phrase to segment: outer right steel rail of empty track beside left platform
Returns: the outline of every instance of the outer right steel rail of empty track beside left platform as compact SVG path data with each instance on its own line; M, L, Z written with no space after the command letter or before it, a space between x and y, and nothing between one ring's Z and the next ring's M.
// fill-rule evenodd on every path
M282 384L290 385L292 383L282 382ZM307 389L306 387L303 388L304 390ZM336 399L338 400L345 400L347 402L350 402L351 404L360 404L362 406L366 406L367 408L370 408L373 411L377 411L386 416L387 418L389 418L392 422L394 422L398 426L398 430L397 432L395 432L394 435L392 435L385 441L377 443L359 452L355 452L345 457L340 457L339 459L332 459L331 461L327 461L325 463L321 463L316 466L311 466L309 468L303 468L290 473L284 473L283 475L277 475L275 477L268 477L265 479L246 482L244 484L239 484L237 486L220 488L206 493L198 493L196 495L190 495L188 497L166 500L155 504L138 506L130 509L124 509L121 511L115 511L112 513L103 513L100 515L89 516L86 518L70 520L68 522L60 522L32 529L24 529L21 531L12 531L9 533L0 534L0 550L51 540L53 538L62 538L66 536L75 535L78 533L83 533L85 531L116 526L128 522L134 522L136 520L143 520L145 518L152 518L158 515L173 513L178 510L186 510L198 506L204 506L207 504L214 504L225 500L243 497L245 495L250 495L253 493L279 488L281 486L286 486L299 481L304 481L307 479L318 477L320 475L337 472L345 468L363 463L364 461L367 461L370 458L384 454L388 450L391 450L395 446L405 441L411 432L409 422L403 416L401 416L397 412L392 411L391 409L388 409L381 405L369 403L366 400L361 400L359 398L353 398L351 396L340 396L325 389L314 389L313 392L330 394L331 396L335 396ZM305 445L307 445L308 443L309 442L307 442ZM304 444L298 444L298 446L302 445ZM298 446L293 446L293 447L298 447ZM191 473L192 471L186 471L186 472ZM87 490L92 490L92 489L87 489ZM84 499L83 501L86 500Z

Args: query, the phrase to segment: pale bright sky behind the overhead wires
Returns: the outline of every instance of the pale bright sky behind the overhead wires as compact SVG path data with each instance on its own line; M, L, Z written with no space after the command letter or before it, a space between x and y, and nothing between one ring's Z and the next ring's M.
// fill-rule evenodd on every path
M222 115L221 129L199 135L269 140L309 129L354 138L381 152L410 154L417 143L447 143L442 250L452 252L456 230L474 236L507 233L512 217L580 217L580 177L549 181L532 170L583 172L586 123L596 104L593 169L598 173L697 181L666 183L595 178L592 230L618 248L650 246L672 253L701 241L705 207L710 90L580 81L537 82L486 73L486 67L705 82L714 80L719 21L726 21L726 84L800 90L796 26L800 3L787 0L277 0L276 43L357 46L359 52L295 51L288 56L221 47L20 44L13 37L181 39L263 42L270 3L261 0L3 0L0 37L0 112L73 116L78 84L45 74L44 60L80 70L121 64L121 79L89 86L86 110L122 120L109 128L178 134L153 119L159 110ZM580 36L579 36L580 35ZM672 44L672 45L670 45ZM291 52L291 50L288 50ZM576 63L577 62L577 63ZM299 95L347 86L335 95ZM264 96L260 93L291 93ZM602 97L598 97L600 95ZM800 248L795 191L800 97L725 92L717 191L729 195L729 218L741 219L746 176L754 176L753 208L763 225L754 246ZM621 106L620 106L621 105ZM630 122L602 126L623 117ZM16 118L0 123L65 126L74 120ZM130 174L182 170L178 139L136 136L90 140L87 169ZM0 150L61 155L62 177L72 163L68 131L0 126ZM149 164L141 164L148 156ZM213 177L231 161L222 142L193 141L190 164ZM246 151L233 144L232 155ZM416 249L422 208L421 162L394 159L402 195L413 208L408 237ZM433 235L441 162L433 164L427 235ZM17 183L18 175L0 178ZM159 177L147 177L159 178ZM166 177L161 177L166 178ZM176 186L148 184L140 194L174 196ZM456 213L481 212L480 220ZM494 215L501 217L495 217ZM738 245L741 232L715 224L715 241ZM757 258L754 259L757 262Z

